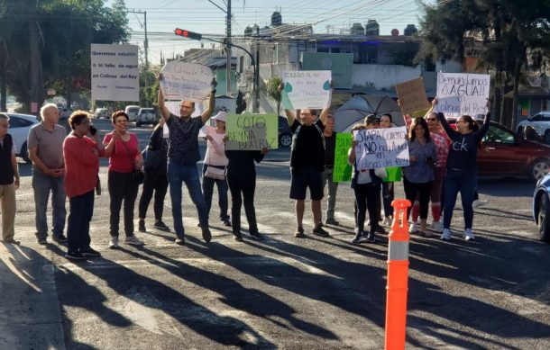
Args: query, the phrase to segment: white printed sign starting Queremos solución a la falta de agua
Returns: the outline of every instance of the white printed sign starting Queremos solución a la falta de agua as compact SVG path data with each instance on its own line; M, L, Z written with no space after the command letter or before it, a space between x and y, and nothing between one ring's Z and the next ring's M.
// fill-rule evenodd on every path
M137 45L91 44L92 100L140 101Z

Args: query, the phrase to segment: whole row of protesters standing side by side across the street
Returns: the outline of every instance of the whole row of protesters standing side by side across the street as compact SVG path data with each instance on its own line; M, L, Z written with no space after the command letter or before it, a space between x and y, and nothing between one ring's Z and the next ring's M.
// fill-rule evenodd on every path
M162 76L160 76L160 79ZM283 85L280 86L282 90ZM432 110L437 100L432 103ZM120 211L123 209L124 244L139 246L143 242L134 232L134 204L142 187L139 201L138 231L146 232L147 208L154 194L155 229L170 231L162 220L164 198L170 187L171 213L175 243L185 245L185 229L182 220L182 185L186 184L191 201L197 208L198 226L202 238L209 242L209 212L212 206L214 185L218 192L219 219L231 227L234 239L243 241L241 207L244 206L250 238L262 239L254 210L256 172L254 162L261 162L268 149L226 150L225 132L227 114L219 112L213 119L215 127L206 126L206 157L201 176L197 170L199 161L198 135L215 110L215 85L208 98L208 106L198 117L192 117L195 103L181 101L179 116L171 113L159 89L159 109L162 119L154 128L150 143L143 152L135 134L128 130L128 115L114 112L114 130L99 139L91 125L87 112L76 111L69 117L72 132L65 137L65 130L58 125L59 112L55 104L41 108L41 122L29 132L27 147L32 160L32 189L36 210L36 238L47 244L47 207L51 193L52 239L68 242L66 256L84 259L100 256L90 246L90 221L94 211L95 192L101 192L99 181L99 157L108 157L107 188L110 197L109 233L110 248L119 247ZM456 121L454 130L442 113L432 110L425 118L418 117L408 129L410 165L403 167L403 183L406 197L414 202L410 232L430 236L426 219L429 202L432 202L431 229L441 233L442 239L450 239L450 223L457 193L461 193L464 212L464 237L473 239L472 202L476 190L476 152L481 138L487 131L489 114L481 127L470 116L463 115ZM313 228L311 233L329 237L325 225L339 225L335 220L335 198L338 183L333 181L335 164L335 117L328 108L318 117L314 109L302 109L299 117L295 111L285 110L293 142L290 155L291 183L289 198L295 201L296 238L305 238L303 225L307 189L310 193ZM390 114L369 115L364 123L353 130L390 128ZM13 139L7 132L9 117L0 114L0 197L2 199L3 241L18 244L14 239L15 190L20 176L15 161ZM479 129L479 130L478 130ZM354 148L350 145L348 161L353 166L352 187L355 194L355 238L353 243L376 241L376 233L383 232L379 221L389 226L394 220L391 201L394 197L393 182L385 179L395 168L359 169ZM384 181L386 180L386 181ZM321 200L328 184L328 202L325 221L322 220ZM232 207L229 215L228 195ZM63 235L66 222L66 198L69 197L67 237ZM442 199L443 197L443 199ZM381 205L383 203L383 205ZM384 215L380 214L383 207ZM440 222L442 208L443 224ZM366 211L369 220L365 229ZM383 219L382 219L383 218ZM418 218L420 220L418 224Z

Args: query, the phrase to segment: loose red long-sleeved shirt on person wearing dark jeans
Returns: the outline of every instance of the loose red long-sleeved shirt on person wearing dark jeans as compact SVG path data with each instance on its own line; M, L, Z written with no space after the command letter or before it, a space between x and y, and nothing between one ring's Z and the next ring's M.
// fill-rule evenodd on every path
M97 184L99 158L96 141L70 134L63 141L65 192L70 198L93 191Z

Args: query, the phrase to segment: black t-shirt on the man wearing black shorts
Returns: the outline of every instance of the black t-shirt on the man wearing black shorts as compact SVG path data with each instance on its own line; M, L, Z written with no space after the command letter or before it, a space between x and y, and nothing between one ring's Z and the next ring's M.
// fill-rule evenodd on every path
M299 131L297 133L298 126ZM316 166L323 171L325 169L325 145L323 141L325 125L321 120L317 120L314 125L303 125L298 120L294 120L290 130L294 133L290 167Z

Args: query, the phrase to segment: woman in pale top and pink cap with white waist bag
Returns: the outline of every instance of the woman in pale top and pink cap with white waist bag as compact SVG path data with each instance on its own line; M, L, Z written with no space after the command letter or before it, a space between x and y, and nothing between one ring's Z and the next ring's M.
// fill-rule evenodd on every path
M227 113L219 112L212 118L215 128L206 126L206 155L203 165L203 194L205 195L206 212L210 214L212 207L212 193L214 184L217 186L218 205L220 207L220 220L224 226L231 226L227 215L227 180L225 180L225 121Z

